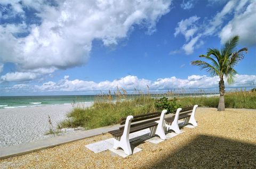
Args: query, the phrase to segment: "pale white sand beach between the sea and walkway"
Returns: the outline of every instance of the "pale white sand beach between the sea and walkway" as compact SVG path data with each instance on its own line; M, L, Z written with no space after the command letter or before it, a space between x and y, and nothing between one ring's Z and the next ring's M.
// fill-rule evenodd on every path
M71 104L0 109L0 147L53 137L45 135L49 131L48 115L55 128L71 109Z

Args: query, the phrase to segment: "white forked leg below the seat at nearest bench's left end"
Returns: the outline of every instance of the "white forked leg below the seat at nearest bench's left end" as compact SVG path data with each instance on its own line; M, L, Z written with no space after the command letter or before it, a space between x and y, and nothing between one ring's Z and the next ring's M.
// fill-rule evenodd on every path
M113 148L116 149L116 150L118 148L122 148L126 155L131 155L132 154L132 149L131 149L131 145L130 145L130 142L129 142L129 138L126 139L123 136L115 138Z

